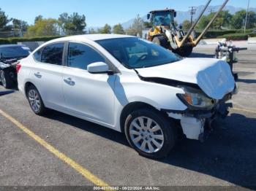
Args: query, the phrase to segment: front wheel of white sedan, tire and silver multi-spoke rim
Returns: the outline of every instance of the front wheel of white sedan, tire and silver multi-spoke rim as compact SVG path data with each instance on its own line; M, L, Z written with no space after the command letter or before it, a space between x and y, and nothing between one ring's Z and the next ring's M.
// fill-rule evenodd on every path
M130 146L139 155L152 159L167 157L177 138L174 122L153 109L140 109L129 114L124 131Z

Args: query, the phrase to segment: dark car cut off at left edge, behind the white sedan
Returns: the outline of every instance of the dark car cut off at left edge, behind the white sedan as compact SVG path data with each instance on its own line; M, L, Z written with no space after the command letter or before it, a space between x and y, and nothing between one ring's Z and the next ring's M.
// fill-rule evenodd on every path
M31 53L25 45L0 45L0 82L5 88L17 83L16 63Z

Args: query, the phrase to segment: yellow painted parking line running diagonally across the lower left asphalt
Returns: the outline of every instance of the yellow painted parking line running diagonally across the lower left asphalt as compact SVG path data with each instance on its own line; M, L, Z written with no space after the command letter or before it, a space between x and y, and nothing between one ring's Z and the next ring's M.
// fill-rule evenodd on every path
M72 168L75 169L75 171L78 171L78 173L82 174L86 179L88 179L90 182L94 183L95 185L99 186L99 187L109 187L109 185L107 183L105 183L104 181L102 181L101 179L99 179L97 176L95 176L94 174L91 174L90 171L86 170L86 168L84 168L83 166L79 165L78 163L76 163L74 160L72 160L71 158L67 157L66 155L64 155L62 152L60 152L58 149L55 149L53 146L51 146L50 144L48 144L48 142L46 142L45 140L43 140L42 138L40 138L39 136L37 136L35 133L33 133L31 130L29 130L28 128L24 127L20 122L18 122L18 120L15 120L13 117L11 117L9 114L7 114L6 112L2 111L0 109L0 114L3 115L4 117L6 117L8 120L10 120L11 122L13 122L18 128L20 128L21 130L23 130L23 132L25 132L28 136L30 136L32 139L34 139L35 141L37 141L39 144L42 145L42 147L45 147L45 149L48 149L48 151L52 152L53 155L55 155L56 157L59 157L60 160L64 161L65 163L67 163L69 166L71 166Z

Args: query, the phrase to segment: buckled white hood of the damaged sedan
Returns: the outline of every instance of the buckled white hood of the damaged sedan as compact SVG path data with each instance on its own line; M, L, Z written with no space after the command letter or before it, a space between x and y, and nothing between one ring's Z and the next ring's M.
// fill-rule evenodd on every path
M213 58L185 58L175 63L136 70L145 78L173 79L198 85L214 99L222 99L235 88L228 63Z

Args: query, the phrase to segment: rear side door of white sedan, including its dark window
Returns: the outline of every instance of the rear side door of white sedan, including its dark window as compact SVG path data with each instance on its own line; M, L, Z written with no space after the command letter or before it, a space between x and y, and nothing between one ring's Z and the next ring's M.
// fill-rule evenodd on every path
M31 76L45 106L59 110L64 104L62 70L64 42L46 45L34 53L37 61L32 66Z

